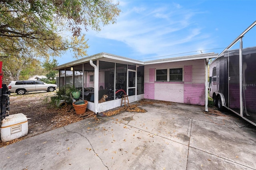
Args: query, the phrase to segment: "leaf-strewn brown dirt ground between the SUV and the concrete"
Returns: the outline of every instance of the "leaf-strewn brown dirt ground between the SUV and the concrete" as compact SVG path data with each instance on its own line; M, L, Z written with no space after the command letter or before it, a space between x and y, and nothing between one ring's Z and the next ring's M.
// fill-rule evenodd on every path
M54 96L56 92L34 92L24 95L10 95L10 115L23 113L28 117L28 135L9 142L0 142L0 147L17 141L50 131L95 116L94 112L86 109L86 113L77 115L72 105L65 108L52 107L44 102L47 96Z

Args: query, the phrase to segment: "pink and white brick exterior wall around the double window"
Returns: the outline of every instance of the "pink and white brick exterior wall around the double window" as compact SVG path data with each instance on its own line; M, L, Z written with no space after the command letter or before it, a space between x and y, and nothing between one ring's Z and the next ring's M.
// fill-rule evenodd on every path
M183 68L184 82L155 82L155 70L166 68ZM204 59L149 64L144 74L144 98L204 106Z

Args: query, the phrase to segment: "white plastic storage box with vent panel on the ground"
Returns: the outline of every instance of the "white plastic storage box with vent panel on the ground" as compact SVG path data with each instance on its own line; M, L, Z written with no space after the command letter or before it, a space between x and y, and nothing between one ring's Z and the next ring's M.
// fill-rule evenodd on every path
M1 121L1 141L7 142L28 134L28 119L23 113L9 115Z

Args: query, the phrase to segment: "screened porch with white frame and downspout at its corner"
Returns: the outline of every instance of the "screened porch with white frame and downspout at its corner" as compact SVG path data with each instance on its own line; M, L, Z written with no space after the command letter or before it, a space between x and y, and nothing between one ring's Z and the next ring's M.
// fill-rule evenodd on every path
M121 105L122 95L129 102L144 98L144 62L107 53L78 59L55 68L59 88L71 85L81 91L80 100L100 113ZM98 100L107 95L106 102Z

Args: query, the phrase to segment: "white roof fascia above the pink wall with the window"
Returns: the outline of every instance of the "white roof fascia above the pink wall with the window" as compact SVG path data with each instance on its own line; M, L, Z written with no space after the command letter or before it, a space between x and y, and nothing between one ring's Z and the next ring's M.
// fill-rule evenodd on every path
M200 60L200 59L212 59L218 57L218 53L204 53L199 55L189 55L183 57L173 57L168 59L160 59L153 61L145 61L144 64L158 64L158 63L169 63L169 62L177 62L177 61L189 61L189 60Z

